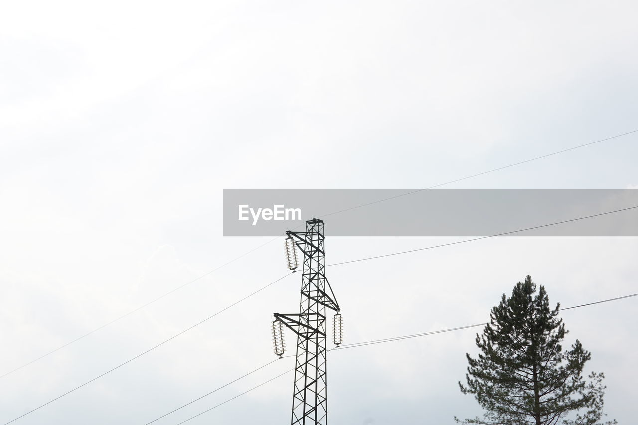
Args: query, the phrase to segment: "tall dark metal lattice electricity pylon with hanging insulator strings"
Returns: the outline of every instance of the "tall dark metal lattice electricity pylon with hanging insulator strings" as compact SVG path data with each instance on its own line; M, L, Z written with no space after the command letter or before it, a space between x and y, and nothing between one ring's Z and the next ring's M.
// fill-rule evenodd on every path
M325 277L323 220L306 221L306 232L286 232L288 268L297 268L295 246L304 254L299 314L275 313L272 337L275 354L283 355L282 324L297 334L291 425L327 425L327 356L325 309L337 313L339 304ZM334 319L334 343L342 343L341 315Z

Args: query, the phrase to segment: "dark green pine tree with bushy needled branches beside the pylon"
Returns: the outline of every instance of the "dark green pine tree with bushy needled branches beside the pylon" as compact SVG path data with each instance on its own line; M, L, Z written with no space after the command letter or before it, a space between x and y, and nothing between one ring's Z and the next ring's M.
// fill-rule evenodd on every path
M538 295L527 276L517 283L512 297L505 294L492 309L491 322L476 337L476 359L468 359L467 385L486 413L457 422L499 425L600 425L605 386L604 375L592 372L585 380L582 370L591 358L576 340L570 350L561 341L568 331L551 309L544 287ZM568 416L570 418L568 418ZM615 424L616 420L604 422Z

